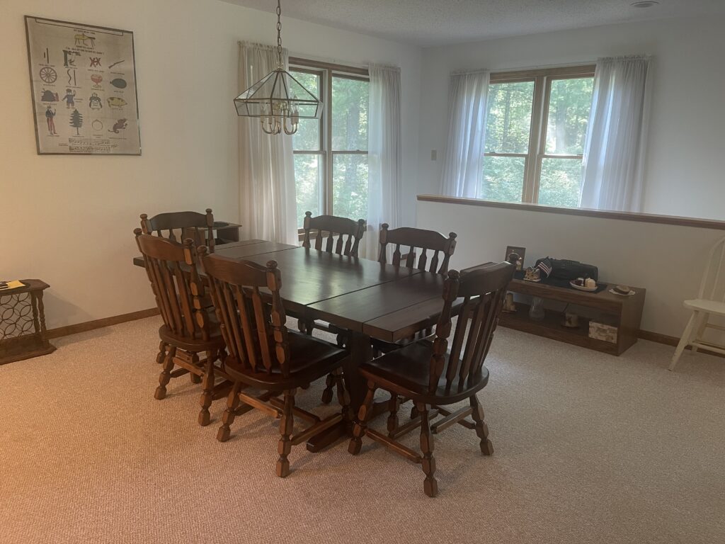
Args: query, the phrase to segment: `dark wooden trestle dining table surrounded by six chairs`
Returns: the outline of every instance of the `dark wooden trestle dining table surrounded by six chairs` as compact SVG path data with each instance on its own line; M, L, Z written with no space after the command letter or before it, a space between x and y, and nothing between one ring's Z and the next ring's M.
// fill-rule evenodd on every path
M366 392L357 368L373 358L370 339L397 342L410 337L434 325L443 308L444 276L436 273L260 239L220 245L215 253L260 265L275 260L285 308L349 330L350 355L343 371L355 413ZM135 257L133 264L144 266L144 260ZM328 429L312 437L307 449L318 451L344 432Z

